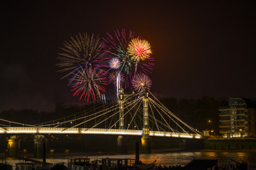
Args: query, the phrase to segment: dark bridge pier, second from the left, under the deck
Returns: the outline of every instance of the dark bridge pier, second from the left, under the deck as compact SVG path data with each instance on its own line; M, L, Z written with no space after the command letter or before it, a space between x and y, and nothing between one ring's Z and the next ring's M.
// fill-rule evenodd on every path
M46 137L43 135L34 136L34 157L43 158L43 142L46 142Z

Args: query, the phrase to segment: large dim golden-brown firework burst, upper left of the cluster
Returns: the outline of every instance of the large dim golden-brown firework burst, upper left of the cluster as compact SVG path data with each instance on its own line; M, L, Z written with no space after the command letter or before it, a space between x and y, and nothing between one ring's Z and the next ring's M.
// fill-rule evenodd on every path
M70 37L70 40L63 43L63 47L60 49L63 50L60 53L60 57L57 57L59 60L57 66L61 69L59 72L68 72L63 78L69 77L70 72L75 71L75 67L78 63L85 64L92 63L95 66L99 66L99 63L95 60L100 57L100 38L92 34L92 36L87 35L87 33L76 35L75 38ZM101 55L104 55L101 53ZM63 79L62 78L62 79Z

